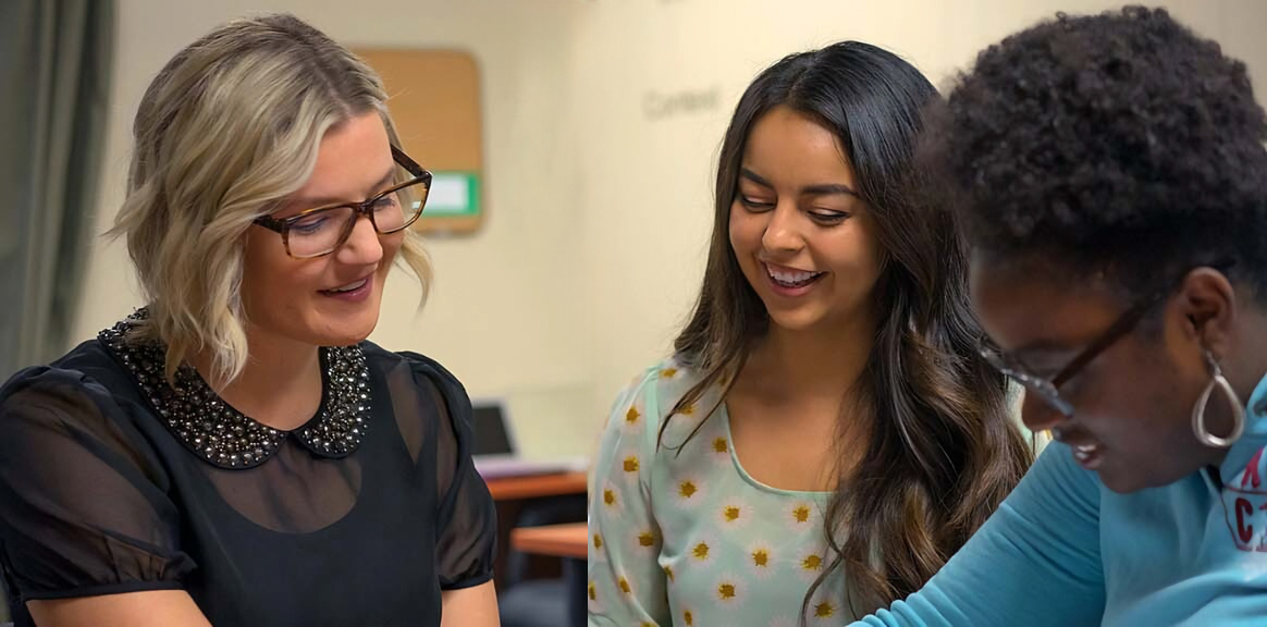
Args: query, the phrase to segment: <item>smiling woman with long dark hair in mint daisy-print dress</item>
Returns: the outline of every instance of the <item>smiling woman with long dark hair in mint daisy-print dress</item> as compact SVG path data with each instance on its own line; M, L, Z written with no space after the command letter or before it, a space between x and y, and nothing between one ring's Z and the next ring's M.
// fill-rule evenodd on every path
M694 314L603 440L590 624L839 623L922 585L1025 472L953 219L906 191L934 98L844 42L740 99Z

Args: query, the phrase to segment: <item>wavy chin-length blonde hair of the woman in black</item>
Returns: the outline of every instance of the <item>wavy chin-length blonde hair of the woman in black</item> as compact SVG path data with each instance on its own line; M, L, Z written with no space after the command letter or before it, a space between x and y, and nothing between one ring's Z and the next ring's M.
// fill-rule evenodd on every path
M331 127L378 111L399 146L385 101L374 70L286 14L217 28L150 84L133 127L127 199L109 234L127 236L150 304L136 337L166 345L169 380L204 351L213 385L241 375L246 231L304 185ZM400 258L426 300L431 265L417 233L407 231Z

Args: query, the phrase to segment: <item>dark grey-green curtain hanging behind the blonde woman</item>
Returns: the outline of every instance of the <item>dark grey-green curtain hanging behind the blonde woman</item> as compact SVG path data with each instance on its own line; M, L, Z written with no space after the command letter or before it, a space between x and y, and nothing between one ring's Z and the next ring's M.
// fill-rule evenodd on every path
M114 10L113 0L0 0L0 380L71 342L105 143Z

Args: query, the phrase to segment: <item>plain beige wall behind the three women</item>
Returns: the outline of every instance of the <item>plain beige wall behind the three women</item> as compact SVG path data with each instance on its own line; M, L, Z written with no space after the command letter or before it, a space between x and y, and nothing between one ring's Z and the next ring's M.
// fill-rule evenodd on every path
M473 395L506 394L531 456L583 453L620 386L668 352L694 298L730 109L778 57L844 38L938 85L976 52L1088 0L122 0L104 228L144 86L181 46L252 10L293 10L348 44L457 47L483 72L489 219L436 239L437 282L398 277L374 339L426 352ZM1163 3L1267 85L1267 3ZM1263 87L1267 89L1267 87ZM91 260L79 336L138 305L122 246Z

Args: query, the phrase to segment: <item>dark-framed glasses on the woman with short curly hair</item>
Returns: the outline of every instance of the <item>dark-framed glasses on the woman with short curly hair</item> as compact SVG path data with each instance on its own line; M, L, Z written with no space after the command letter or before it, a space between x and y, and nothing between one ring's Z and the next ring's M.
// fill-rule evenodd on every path
M1234 261L1223 261L1220 263L1211 263L1210 267L1226 272L1234 263ZM1010 357L990 346L987 343L987 338L984 337L982 337L979 342L981 356L984 357L986 361L1001 374L1021 384L1026 391L1038 394L1043 400L1066 417L1073 415L1073 404L1060 396L1060 385L1064 385L1069 379L1073 379L1073 376L1081 372L1087 364L1091 364L1091 361L1098 357L1100 353L1109 350L1110 346L1121 339L1126 333L1130 333L1131 329L1139 324L1139 320L1144 318L1144 314L1157 307L1158 303L1166 300L1171 291L1175 290L1176 285L1178 285L1178 282L1196 267L1201 266L1188 269L1175 281L1166 284L1157 291L1148 294L1133 304L1121 315L1119 315L1117 319L1100 334L1098 338L1087 345L1087 347L1069 360L1069 362L1066 364L1059 372L1050 377L1038 376L1030 372L1029 369L1016 358Z

